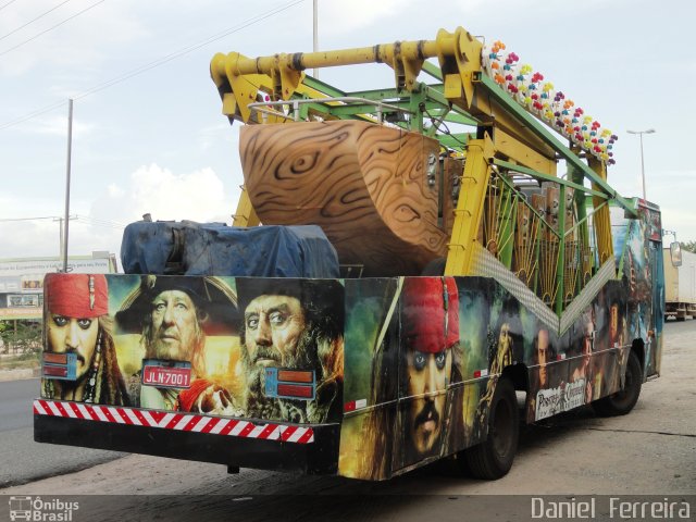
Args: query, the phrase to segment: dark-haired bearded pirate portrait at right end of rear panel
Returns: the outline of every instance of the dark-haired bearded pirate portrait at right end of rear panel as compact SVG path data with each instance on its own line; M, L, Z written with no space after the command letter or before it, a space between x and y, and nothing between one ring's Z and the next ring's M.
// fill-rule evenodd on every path
M337 420L343 408L344 287L331 279L236 279L247 417ZM314 372L314 400L266 397L268 368Z

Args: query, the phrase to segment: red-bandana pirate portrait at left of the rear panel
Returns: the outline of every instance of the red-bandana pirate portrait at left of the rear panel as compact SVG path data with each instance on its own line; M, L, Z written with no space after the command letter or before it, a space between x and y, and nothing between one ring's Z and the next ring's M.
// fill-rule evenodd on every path
M109 316L104 275L49 274L46 293L46 352L74 353L75 381L45 377L42 397L128 406Z

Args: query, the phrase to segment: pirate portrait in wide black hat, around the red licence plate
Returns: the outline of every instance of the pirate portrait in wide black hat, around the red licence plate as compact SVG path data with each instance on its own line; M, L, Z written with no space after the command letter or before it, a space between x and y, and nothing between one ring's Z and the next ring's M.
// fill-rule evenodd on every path
M142 275L116 313L121 334L140 334L147 360L190 364L187 388L142 384L142 371L128 377L136 406L165 410L239 415L231 393L209 378L207 343L236 332L237 299L219 277Z

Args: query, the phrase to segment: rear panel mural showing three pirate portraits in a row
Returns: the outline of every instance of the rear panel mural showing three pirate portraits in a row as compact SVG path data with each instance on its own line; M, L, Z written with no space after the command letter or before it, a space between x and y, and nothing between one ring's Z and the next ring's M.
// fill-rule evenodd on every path
M46 286L45 398L297 423L339 417L338 281L51 274Z

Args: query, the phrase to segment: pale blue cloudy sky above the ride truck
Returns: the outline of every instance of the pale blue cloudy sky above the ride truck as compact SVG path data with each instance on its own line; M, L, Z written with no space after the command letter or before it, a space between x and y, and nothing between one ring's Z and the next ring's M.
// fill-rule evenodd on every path
M696 240L692 0L318 0L320 50L502 40L619 136L609 183ZM239 124L210 79L216 52L312 50L312 0L0 0L0 259L58 256L74 99L69 253L119 254L123 228L226 222L243 184ZM391 86L385 66L326 69L344 90ZM666 238L666 240L671 240Z

